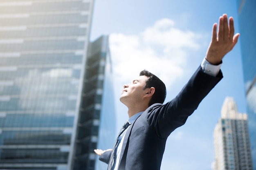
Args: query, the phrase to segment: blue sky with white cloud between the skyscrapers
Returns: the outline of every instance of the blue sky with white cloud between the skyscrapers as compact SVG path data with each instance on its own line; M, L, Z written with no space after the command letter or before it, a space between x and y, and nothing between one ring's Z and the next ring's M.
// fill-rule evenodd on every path
M223 13L234 17L239 32L234 0L95 0L90 39L110 35L117 131L128 119L127 108L119 102L123 85L147 69L166 83L166 101L174 98L200 65L213 23ZM210 170L213 129L225 97L234 97L238 111L246 113L239 41L221 70L222 81L169 136L161 170Z

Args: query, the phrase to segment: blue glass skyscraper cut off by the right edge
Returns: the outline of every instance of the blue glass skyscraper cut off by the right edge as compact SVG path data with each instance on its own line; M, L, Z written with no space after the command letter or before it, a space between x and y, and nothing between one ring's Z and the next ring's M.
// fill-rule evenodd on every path
M253 169L256 170L256 1L237 0Z

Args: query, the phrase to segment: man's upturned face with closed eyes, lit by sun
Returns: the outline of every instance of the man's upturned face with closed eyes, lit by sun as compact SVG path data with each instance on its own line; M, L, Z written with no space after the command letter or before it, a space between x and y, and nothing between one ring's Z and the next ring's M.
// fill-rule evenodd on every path
M139 103L146 94L146 89L144 89L144 87L147 80L147 76L139 76L130 84L124 85L120 101L126 106Z

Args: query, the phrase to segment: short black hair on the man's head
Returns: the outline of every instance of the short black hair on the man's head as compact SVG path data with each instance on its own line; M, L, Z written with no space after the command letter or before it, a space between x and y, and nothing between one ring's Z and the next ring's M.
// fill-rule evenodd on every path
M155 103L164 103L166 97L166 87L164 82L162 82L157 76L150 73L148 70L142 70L139 73L139 76L147 76L148 80L146 81L146 85L144 89L154 87L155 93L153 94L151 100L148 103L148 106L151 106Z

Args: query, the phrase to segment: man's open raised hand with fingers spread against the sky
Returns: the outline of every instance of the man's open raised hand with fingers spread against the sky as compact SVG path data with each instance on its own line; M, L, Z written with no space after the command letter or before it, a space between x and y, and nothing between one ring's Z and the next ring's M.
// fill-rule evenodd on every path
M213 24L212 39L206 53L206 59L213 65L218 65L222 58L231 51L236 45L239 33L234 35L234 20L229 17L229 24L227 14L223 14L219 19L218 37L217 37L217 23Z

